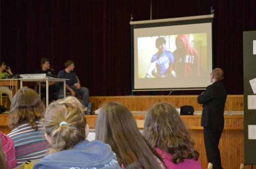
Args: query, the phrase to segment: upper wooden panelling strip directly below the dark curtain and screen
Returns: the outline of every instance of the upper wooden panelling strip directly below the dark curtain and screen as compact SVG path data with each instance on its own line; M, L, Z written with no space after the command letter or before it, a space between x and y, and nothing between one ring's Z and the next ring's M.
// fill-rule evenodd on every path
M155 103L171 103L176 108L183 105L192 105L195 111L202 111L202 105L197 103L197 95L181 96L108 96L90 97L93 109L96 110L102 103L118 101L126 105L130 111L146 111ZM243 111L243 95L228 95L225 111Z

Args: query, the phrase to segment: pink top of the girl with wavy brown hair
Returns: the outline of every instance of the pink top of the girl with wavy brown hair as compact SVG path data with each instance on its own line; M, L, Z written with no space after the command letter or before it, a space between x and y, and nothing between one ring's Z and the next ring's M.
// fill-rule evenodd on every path
M172 155L163 152L160 148L155 148L155 150L162 156L167 169L202 169L199 159L197 161L194 159L184 159L183 163L174 164L171 160Z

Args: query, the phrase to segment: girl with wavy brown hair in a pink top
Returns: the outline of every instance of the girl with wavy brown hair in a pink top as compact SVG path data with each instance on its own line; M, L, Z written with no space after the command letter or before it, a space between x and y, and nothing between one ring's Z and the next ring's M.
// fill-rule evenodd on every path
M162 156L168 169L201 169L195 142L177 110L168 103L157 103L145 116L143 136Z

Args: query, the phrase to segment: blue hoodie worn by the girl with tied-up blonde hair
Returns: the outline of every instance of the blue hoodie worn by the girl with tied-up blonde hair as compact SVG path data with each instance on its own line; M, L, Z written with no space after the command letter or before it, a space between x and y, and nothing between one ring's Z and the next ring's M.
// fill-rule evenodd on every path
M120 169L120 166L108 144L84 140L72 149L47 155L34 169Z

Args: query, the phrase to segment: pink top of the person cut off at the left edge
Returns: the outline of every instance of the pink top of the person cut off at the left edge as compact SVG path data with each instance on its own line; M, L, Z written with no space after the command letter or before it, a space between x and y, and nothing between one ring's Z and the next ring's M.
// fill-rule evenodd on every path
M0 141L2 141L2 148L4 150L7 168L15 168L17 165L17 161L15 157L15 148L13 140L6 134L0 132Z

